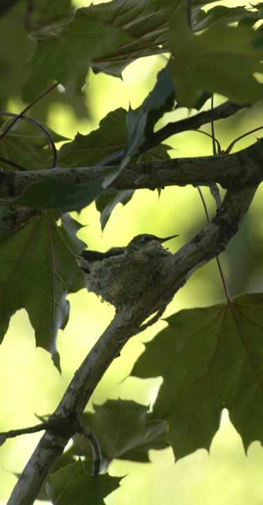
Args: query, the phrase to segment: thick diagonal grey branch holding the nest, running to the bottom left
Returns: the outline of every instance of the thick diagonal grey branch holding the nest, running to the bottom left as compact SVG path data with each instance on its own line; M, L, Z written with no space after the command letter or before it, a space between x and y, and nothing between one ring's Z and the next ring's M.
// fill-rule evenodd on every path
M144 293L142 300L133 307L124 307L117 312L112 323L92 348L73 377L68 390L52 415L54 426L66 426L64 437L59 436L59 428L45 432L30 461L14 487L8 505L31 505L41 484L52 466L64 450L68 439L79 427L81 414L86 403L108 369L113 359L131 336L140 331L143 321L165 306L175 292L182 287L195 269L220 251L226 249L228 242L242 224L257 187L228 191L215 218L176 254L164 258L163 269L157 272L156 291Z

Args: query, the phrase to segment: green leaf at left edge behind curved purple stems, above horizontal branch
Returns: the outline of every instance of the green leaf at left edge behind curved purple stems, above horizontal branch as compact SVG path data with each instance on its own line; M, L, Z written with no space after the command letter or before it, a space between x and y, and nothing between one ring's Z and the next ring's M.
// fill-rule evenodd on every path
M0 132L6 130L12 119L8 119ZM53 142L67 140L66 137L58 135L44 123L40 126L52 137ZM6 158L14 163L23 166L26 170L52 169L52 149L48 137L35 126L26 120L19 120L12 126L0 142L0 157ZM0 162L5 170L14 170L10 165Z

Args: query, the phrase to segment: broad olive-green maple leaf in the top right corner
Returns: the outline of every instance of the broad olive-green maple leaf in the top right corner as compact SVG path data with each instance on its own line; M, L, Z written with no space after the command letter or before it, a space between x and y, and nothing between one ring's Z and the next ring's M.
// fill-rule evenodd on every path
M263 53L251 47L252 28L213 24L194 35L186 22L182 4L170 26L171 76L177 84L180 106L195 107L202 92L220 93L237 103L262 98L262 88L253 73L262 72Z

